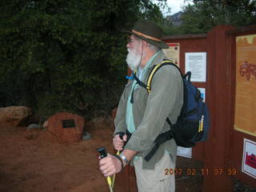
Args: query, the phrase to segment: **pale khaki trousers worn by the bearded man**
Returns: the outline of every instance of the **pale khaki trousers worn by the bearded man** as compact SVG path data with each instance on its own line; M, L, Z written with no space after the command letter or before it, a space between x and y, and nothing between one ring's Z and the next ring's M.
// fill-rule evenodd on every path
M166 169L174 170L175 164L170 154L165 153L154 170L142 170L142 158L134 161L138 192L174 192L174 174L166 174Z

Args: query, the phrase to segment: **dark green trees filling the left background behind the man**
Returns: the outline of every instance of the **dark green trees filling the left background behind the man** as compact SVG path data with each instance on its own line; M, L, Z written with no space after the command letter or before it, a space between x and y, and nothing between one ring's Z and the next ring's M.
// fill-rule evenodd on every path
M2 0L0 11L0 105L42 115L110 112L126 83L120 30L162 22L146 0Z

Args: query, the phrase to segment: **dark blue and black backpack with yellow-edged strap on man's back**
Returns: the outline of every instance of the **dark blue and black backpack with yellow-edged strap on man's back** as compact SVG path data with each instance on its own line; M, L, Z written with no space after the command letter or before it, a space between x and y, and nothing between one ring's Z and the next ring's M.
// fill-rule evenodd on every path
M182 75L182 71L170 60L164 59L162 63L154 66L153 70L150 71L149 78L146 84L141 82L134 74L134 79L138 84L144 87L148 93L150 93L150 83L154 78L154 74L162 66L175 66L183 80L184 98L181 114L178 116L177 122L172 124L169 118L166 118L166 122L170 125L170 130L165 133L159 134L154 140L155 146L150 150L150 153L146 155L146 161L149 161L153 157L158 147L174 138L178 146L192 147L196 142L205 142L210 130L210 114L205 102L202 102L200 90L190 82L191 72L187 72ZM136 73L136 72L135 72Z

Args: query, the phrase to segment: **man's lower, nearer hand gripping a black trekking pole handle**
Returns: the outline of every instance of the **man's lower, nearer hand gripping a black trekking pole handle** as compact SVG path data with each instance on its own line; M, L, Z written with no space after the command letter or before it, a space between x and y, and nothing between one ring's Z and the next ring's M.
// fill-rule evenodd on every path
M106 158L99 161L99 170L105 177L117 174L122 170L122 162L111 154L107 154Z

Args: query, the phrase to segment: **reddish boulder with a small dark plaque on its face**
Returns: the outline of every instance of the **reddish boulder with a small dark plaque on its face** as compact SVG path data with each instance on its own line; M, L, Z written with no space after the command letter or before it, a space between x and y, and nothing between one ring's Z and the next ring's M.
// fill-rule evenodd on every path
M78 114L61 112L48 119L48 129L58 142L78 142L82 138L84 118Z

